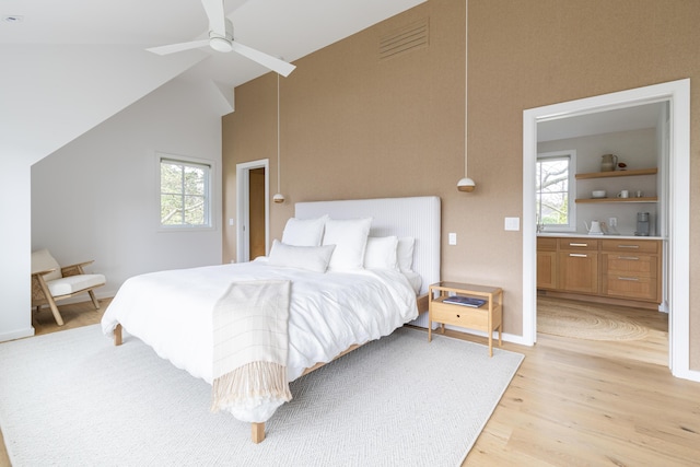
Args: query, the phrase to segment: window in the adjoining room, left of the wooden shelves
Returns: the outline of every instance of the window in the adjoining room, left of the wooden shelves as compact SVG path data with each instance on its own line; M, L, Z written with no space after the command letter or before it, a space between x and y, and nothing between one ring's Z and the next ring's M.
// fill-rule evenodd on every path
M576 152L548 152L537 155L537 225L546 231L575 230L574 167Z

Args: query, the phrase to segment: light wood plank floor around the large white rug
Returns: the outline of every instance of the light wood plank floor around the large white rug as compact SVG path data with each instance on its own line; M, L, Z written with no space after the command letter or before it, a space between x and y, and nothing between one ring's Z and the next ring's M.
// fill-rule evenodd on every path
M102 303L104 310L108 301ZM66 326L42 312L37 334L102 316L90 303L60 308ZM700 384L670 375L666 315L603 308L645 324L649 335L641 341L590 341L540 334L534 347L504 342L525 360L464 466L699 465ZM0 466L9 465L0 443Z

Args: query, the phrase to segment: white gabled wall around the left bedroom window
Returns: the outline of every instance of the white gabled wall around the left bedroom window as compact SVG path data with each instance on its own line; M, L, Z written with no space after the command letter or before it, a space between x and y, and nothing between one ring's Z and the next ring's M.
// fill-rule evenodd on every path
M60 264L94 259L98 296L129 277L221 262L221 101L173 80L32 166L32 249ZM158 231L155 152L213 162L213 231Z

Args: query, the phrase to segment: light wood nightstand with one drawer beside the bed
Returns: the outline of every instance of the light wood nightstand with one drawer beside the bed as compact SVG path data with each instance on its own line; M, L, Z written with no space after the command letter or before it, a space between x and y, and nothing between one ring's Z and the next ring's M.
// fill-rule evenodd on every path
M450 295L464 295L485 300L479 307L444 303ZM433 322L441 324L441 332L445 332L445 324L477 329L489 336L489 355L493 357L493 331L499 330L499 347L502 345L503 331L503 289L500 287L475 285L460 282L438 282L428 292L428 341L432 340Z

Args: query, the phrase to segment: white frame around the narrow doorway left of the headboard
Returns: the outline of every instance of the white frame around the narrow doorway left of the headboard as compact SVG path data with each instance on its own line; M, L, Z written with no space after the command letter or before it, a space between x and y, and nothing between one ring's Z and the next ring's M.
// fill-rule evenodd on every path
M236 164L236 261L250 260L250 171L265 170L265 253L270 248L270 160Z

